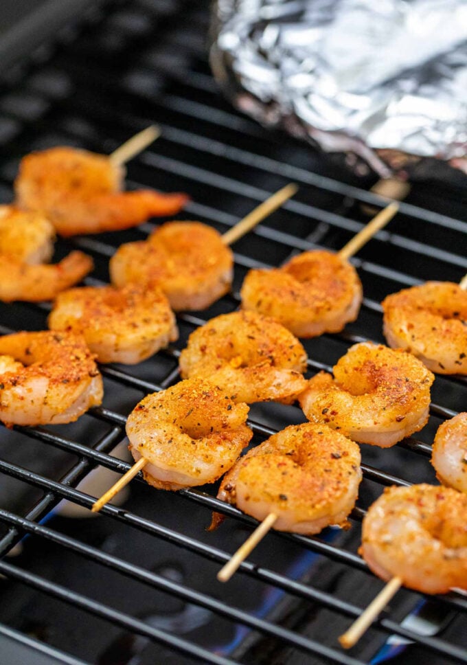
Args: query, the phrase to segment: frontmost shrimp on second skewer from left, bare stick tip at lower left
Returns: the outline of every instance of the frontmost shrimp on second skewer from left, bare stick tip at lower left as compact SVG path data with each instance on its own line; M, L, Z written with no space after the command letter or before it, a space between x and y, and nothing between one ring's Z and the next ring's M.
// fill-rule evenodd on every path
M234 404L217 386L181 381L144 398L126 424L129 449L148 460L144 479L160 489L214 482L236 462L253 432L249 408Z

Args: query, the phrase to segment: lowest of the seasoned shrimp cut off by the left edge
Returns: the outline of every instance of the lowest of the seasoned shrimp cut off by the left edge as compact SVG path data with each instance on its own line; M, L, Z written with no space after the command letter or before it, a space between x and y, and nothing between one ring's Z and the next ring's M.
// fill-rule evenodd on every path
M0 420L8 427L73 422L102 402L102 376L78 335L5 335L0 359Z

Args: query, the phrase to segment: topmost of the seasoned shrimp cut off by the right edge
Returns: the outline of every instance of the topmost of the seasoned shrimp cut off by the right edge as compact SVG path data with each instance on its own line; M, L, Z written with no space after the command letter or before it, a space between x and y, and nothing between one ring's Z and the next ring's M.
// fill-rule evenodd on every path
M467 374L467 292L454 282L426 282L388 295L389 346L403 348L437 374Z

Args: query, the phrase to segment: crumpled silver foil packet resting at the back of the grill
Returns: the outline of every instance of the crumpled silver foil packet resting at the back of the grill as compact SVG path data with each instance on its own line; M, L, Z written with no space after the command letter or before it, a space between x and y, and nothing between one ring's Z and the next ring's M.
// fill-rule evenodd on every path
M238 109L358 174L467 186L466 0L218 0L210 62Z

